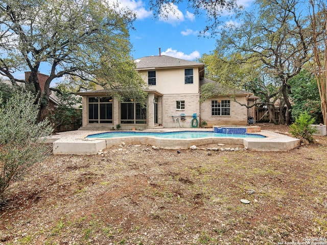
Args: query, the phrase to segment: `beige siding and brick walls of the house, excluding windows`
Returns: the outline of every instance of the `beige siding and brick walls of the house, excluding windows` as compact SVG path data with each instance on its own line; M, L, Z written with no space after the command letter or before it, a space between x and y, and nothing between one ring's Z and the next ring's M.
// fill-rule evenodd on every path
M143 57L135 61L137 62L139 75L141 75L146 84L148 84L148 72L155 71L156 84L145 88L145 91L148 93L147 124L137 124L136 122L129 125L121 124L121 106L119 101L113 98L112 125L88 125L88 96L103 96L107 94L101 86L97 86L96 91L82 93L83 127L112 128L120 124L122 130L130 130L132 128L137 130L153 129L158 126L164 128L192 128L200 126L201 121L206 121L208 127L214 125L246 125L248 113L249 116L252 116L252 114L254 116L254 108L253 110L248 110L228 97L217 96L200 104L200 86L214 82L204 78L204 64L202 63L168 56ZM185 84L185 69L193 69L193 83L191 84ZM222 84L217 83L216 85L219 91L226 90ZM232 90L232 92L232 94L237 94L240 103L248 103L247 95L251 93L247 93L244 90ZM230 115L212 116L212 100L230 100ZM184 101L185 108L177 109L176 101ZM155 105L157 105L157 121L155 121ZM194 114L197 115L198 125L192 125L192 121L196 122L193 120Z

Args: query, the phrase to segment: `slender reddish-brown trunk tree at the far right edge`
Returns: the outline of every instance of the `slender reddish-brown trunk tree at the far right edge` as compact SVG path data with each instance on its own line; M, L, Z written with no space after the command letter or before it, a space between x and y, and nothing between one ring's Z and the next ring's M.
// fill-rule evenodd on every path
M318 84L323 123L327 125L327 9L324 2L310 0L310 4L314 43L313 74Z

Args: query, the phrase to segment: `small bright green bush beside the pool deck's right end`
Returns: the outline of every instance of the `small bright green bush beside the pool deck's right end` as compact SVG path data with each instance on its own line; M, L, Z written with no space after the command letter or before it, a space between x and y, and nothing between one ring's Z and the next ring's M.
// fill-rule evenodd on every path
M312 136L316 129L312 128L310 125L313 124L314 118L312 118L307 112L301 113L293 124L290 125L291 134L299 138L303 143L310 143L314 141Z

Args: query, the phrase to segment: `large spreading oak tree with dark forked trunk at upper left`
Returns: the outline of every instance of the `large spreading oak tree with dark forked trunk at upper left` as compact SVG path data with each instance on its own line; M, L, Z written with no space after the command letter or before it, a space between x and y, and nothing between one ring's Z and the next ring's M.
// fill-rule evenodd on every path
M77 77L137 94L142 79L129 56L128 29L135 16L97 0L6 0L0 2L0 74L12 83L16 71L31 71L39 118L49 101L54 79ZM37 73L49 66L44 92ZM117 75L119 75L117 77Z

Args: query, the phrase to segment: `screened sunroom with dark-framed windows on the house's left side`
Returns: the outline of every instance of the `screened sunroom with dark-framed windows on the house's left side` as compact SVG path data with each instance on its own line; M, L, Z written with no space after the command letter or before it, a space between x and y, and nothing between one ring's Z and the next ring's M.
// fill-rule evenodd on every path
M83 122L81 129L144 130L162 125L162 94L146 90L145 103L131 98L119 100L106 90L81 92Z

